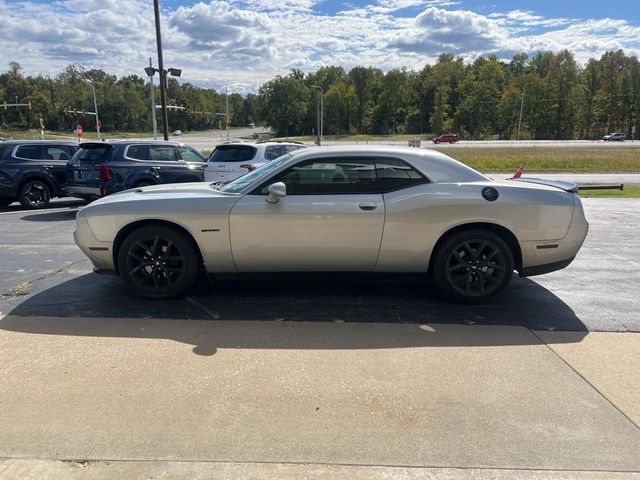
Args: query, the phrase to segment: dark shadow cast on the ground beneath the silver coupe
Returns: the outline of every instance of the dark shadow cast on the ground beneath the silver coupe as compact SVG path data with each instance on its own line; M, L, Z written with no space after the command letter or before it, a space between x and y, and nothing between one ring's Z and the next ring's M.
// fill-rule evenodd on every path
M323 322L349 327L327 329ZM371 334L378 327L365 325L370 323L386 325L384 334ZM265 333L268 325L276 324L295 325L293 336ZM494 328L460 329L460 325ZM194 345L193 351L202 355L218 348L541 343L526 330L575 332L564 342L579 342L587 335L586 326L568 305L528 279L514 278L511 288L493 303L454 305L442 300L422 275L387 274L219 275L211 283L202 279L188 295L167 301L134 297L118 278L87 274L29 297L0 321L0 329L165 338Z

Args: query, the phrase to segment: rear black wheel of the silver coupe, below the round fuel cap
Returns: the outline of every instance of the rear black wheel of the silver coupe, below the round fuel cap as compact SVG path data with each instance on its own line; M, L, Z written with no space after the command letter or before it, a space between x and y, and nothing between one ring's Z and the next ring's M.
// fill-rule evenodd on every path
M498 235L468 230L447 239L436 252L433 279L458 303L485 303L511 281L513 254Z

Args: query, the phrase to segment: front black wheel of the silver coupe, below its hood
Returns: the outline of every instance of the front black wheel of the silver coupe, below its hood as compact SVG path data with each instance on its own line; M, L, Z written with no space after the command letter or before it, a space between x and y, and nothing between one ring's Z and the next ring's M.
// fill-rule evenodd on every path
M118 252L118 271L129 289L142 297L176 297L193 286L198 253L177 230L147 226L133 231Z

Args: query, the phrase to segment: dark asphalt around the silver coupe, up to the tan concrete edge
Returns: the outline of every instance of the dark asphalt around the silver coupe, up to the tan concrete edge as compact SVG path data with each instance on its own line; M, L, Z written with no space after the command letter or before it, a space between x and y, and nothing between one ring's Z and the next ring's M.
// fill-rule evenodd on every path
M441 300L421 275L255 274L202 278L189 295L153 302L91 272L72 238L80 204L0 212L0 314L214 320L519 325L640 331L640 200L585 199L590 231L566 269L512 286L490 305ZM59 205L63 205L59 207Z

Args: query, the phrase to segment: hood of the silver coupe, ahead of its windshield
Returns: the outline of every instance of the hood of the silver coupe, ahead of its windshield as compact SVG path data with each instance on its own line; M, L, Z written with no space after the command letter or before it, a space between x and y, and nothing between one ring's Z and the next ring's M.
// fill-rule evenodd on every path
M149 187L132 188L114 193L96 200L91 205L105 205L109 203L130 202L136 200L159 200L178 198L215 198L237 197L236 193L226 193L215 190L211 182L172 183L166 185L152 185Z

